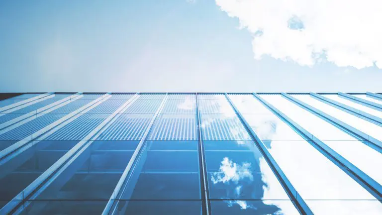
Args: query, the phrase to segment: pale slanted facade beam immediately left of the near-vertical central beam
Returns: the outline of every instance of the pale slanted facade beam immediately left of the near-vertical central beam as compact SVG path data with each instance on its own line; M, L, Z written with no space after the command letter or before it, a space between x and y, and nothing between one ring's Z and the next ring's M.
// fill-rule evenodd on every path
M118 209L118 205L119 205L117 198L119 198L121 195L123 195L123 192L125 191L126 186L128 184L128 181L126 181L126 178L129 175L133 164L137 160L137 157L139 156L139 154L141 154L140 152L141 152L143 145L146 142L146 138L147 138L148 134L150 133L150 130L154 124L155 119L157 118L157 116L162 111L162 109L163 109L163 107L167 101L167 98L168 98L168 93L166 93L165 97L162 100L162 103L160 104L159 108L157 109L153 118L151 119L149 125L147 126L146 131L144 132L141 140L139 141L137 148L135 149L133 155L131 156L131 158L129 160L129 163L127 164L125 170L122 173L121 178L119 179L117 185L115 186L115 189L114 189L113 193L111 194L109 201L107 202L105 208L103 209L102 215L108 215L108 214L116 213L115 210Z

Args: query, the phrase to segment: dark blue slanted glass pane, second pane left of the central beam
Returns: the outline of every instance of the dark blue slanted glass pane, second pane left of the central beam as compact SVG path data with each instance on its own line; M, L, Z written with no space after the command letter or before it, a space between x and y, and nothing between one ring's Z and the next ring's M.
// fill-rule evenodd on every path
M108 147L104 147L104 144L109 145L113 142L86 144L84 151L43 190L37 199L108 200L133 151L107 150Z

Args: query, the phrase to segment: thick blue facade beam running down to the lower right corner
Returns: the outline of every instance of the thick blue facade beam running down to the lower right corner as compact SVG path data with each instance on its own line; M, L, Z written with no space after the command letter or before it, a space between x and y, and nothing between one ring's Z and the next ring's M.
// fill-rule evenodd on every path
M369 193L371 193L378 200L382 200L382 186L372 179L370 176L361 171L358 167L353 165L351 162L346 160L320 139L315 137L312 133L305 130L297 122L289 118L285 113L283 113L278 108L274 107L266 100L261 98L259 95L253 93L253 96L258 99L265 107L270 109L275 115L277 115L281 120L286 122L293 130L295 130L300 136L309 140L308 142L316 148L322 155L331 160L336 166L342 169L347 175L353 178L358 184L364 187Z

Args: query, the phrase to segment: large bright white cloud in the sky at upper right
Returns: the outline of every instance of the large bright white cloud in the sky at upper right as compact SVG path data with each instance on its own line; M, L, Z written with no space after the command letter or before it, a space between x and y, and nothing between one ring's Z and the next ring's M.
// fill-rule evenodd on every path
M216 0L253 34L255 59L382 68L382 1Z

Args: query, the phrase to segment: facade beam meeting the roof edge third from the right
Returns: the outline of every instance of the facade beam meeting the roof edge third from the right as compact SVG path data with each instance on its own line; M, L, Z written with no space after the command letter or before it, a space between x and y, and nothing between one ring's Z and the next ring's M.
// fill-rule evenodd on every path
M370 113L367 113L365 111L362 111L360 109L357 109L357 108L352 108L348 105L345 105L345 104L342 104L340 102L337 102L335 100L332 100L332 99L329 99L327 97L324 97L324 96L321 96L319 94L316 94L316 93L313 93L313 92L310 92L309 93L311 96L313 96L314 99L317 99L321 102L324 102L330 106L333 106L334 108L338 108L338 109L341 109L341 110L345 110L345 111L348 111L352 114L355 114L356 116L359 116L361 118L364 118L368 121L371 121L377 125L380 125L382 124L382 118L378 117L378 116L375 116L373 114L370 114Z

